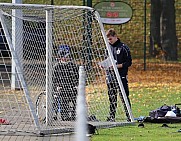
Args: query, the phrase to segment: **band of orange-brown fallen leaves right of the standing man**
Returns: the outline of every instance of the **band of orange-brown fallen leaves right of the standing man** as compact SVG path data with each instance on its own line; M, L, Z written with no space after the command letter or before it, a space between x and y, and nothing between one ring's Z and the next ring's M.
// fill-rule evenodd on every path
M146 71L143 64L138 60L133 60L133 65L129 69L130 83L167 84L181 82L180 63L147 63Z

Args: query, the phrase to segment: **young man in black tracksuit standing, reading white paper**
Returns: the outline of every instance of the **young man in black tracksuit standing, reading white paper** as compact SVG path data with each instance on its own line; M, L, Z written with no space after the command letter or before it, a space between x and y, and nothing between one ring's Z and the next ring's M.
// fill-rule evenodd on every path
M128 67L130 67L132 64L130 50L128 46L126 46L124 43L120 41L114 29L109 29L106 32L106 36L108 38L110 48L116 62L116 66L117 66L120 79L122 81L122 84L123 84L123 87L128 99L128 103L131 106L130 99L129 99L128 80L127 80ZM115 121L115 114L116 114L116 108L117 108L117 93L118 93L118 90L119 92L121 92L121 90L119 88L113 69L112 68L108 69L106 73L107 73L106 82L107 82L108 96L109 96L109 101L110 101L110 112L109 112L109 117L107 118L107 121ZM127 111L127 108L122 96L121 96L121 100L123 101L125 111ZM129 120L128 113L126 114L126 116Z

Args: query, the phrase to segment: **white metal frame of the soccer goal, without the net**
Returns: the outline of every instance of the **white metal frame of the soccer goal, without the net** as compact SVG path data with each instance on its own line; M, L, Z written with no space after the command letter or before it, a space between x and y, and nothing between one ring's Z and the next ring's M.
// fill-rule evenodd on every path
M46 99L50 99L50 101L52 99L52 97L49 95L49 93L52 93L52 86L50 85L52 83L52 77L51 77L52 76L52 71L50 70L51 68L49 68L49 64L52 63L52 60L50 59L51 56L52 56L52 48L53 48L53 44L52 44L52 34L53 33L52 33L52 28L51 28L52 27L51 21L52 21L52 12L53 12L54 8L58 8L58 9L72 8L72 7L74 7L75 9L85 8L85 9L88 9L90 11L95 12L95 16L96 16L96 19L97 19L97 21L98 21L98 23L100 25L100 30L102 32L102 36L103 36L104 42L105 42L107 50L108 50L108 54L109 54L109 56L111 58L111 63L113 65L113 69L115 71L116 77L120 78L117 67L116 67L116 64L115 64L114 59L113 59L111 49L109 47L109 43L107 41L107 37L106 37L105 32L104 32L104 26L103 26L103 24L102 24L102 22L100 20L101 18L99 16L99 13L97 11L95 11L93 8L86 7L86 6L52 6L52 5L35 5L35 4L11 4L11 3L0 3L0 7L12 7L12 9L14 9L14 8L16 9L16 8L20 8L20 7L23 7L23 8L28 7L28 8L32 8L32 9L45 9L45 11L46 11ZM4 21L3 14L2 14L1 10L0 10L0 22L2 24L2 27L3 27L3 30L4 30L6 39L7 39L7 43L8 43L8 46L9 46L9 49L11 51L13 62L15 64L15 66L16 66L17 75L19 77L22 89L24 91L27 103L29 105L29 109L30 109L32 117L33 117L35 127L37 129L37 133L38 134L39 133L50 134L51 132L55 133L56 130L52 131L52 130L47 130L46 129L45 131L43 131L40 128L39 120L38 120L38 117L37 117L36 112L35 112L36 108L34 107L33 102L32 102L32 100L30 98L29 90L28 90L28 87L26 85L26 81L25 81L24 76L23 76L23 71L22 71L23 68L21 67L21 60L18 58L16 49L14 48L13 42L11 41L11 37L10 37L8 31L7 31L7 27L6 27L6 24L5 24L5 21ZM133 123L134 119L133 119L132 111L131 111L130 105L129 105L127 97L126 97L122 81L121 81L121 79L117 79L117 80L118 80L118 84L119 84L119 87L120 87L120 90L121 90L121 93L122 93L123 100L125 101L125 105L127 107L128 114L129 114L130 119L131 119L131 123ZM49 119L52 116L52 115L50 115L50 112L49 112L49 109L51 109L51 104L48 101L46 102L46 107L47 107L46 125L48 126L51 123L51 121L49 121ZM110 127L120 126L120 125L122 126L122 125L125 125L125 124L126 123L117 123L116 125L111 125ZM100 127L101 127L101 125L100 125ZM102 125L102 127L104 127L104 126ZM58 132L60 132L60 130L57 130L57 133Z

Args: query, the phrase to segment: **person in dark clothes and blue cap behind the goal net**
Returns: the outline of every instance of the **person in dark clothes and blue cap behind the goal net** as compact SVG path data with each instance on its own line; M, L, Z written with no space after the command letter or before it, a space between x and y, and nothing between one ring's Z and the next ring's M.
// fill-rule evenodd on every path
M70 47L59 46L59 62L54 65L53 88L55 95L55 111L60 113L63 121L75 120L77 87L79 83L79 66L72 62Z

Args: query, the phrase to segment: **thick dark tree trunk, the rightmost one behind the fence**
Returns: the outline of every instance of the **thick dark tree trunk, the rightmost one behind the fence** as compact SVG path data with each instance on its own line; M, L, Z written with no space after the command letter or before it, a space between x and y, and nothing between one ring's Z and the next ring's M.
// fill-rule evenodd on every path
M177 36L174 0L161 0L161 46L165 60L177 61Z

